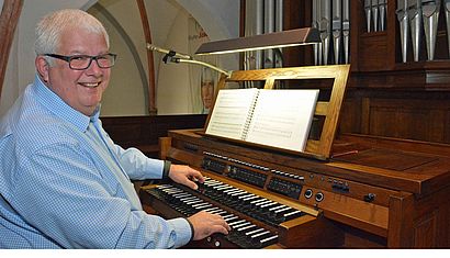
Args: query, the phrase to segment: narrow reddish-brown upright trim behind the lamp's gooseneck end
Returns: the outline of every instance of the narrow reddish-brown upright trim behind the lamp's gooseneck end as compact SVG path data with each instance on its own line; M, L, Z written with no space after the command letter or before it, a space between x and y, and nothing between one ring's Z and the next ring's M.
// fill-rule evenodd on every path
M143 24L145 42L151 44L150 25L147 18L147 11L144 0L136 0L139 8L140 21ZM156 115L158 110L156 108L156 82L155 82L155 63L153 51L147 49L147 63L148 63L148 112L150 115Z

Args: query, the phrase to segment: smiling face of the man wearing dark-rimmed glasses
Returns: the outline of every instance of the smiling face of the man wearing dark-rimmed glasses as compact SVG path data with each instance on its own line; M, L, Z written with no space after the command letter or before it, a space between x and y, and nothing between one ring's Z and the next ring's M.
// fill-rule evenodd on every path
M108 53L102 35L81 30L66 31L61 34L58 53L65 56L97 56ZM111 68L100 68L92 60L86 70L72 70L69 63L54 58L54 66L48 67L43 77L46 85L75 110L91 115L108 88Z

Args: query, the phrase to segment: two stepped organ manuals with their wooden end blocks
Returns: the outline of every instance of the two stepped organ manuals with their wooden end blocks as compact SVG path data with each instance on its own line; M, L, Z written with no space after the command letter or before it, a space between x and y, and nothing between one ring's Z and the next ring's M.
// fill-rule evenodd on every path
M207 171L204 171L209 175ZM297 237L303 239L302 246L311 246L312 239L319 239L319 233L299 232L299 225L324 224L319 212L239 183L226 183L226 179L205 177L204 183L199 183L196 191L177 183L151 184L143 188L140 198L144 206L150 212L164 211L166 217L190 216L200 211L221 214L230 225L227 236L213 235L191 247L226 247L226 248L280 248L280 243L292 242ZM229 182L229 181L228 181ZM320 237L325 244L326 239Z

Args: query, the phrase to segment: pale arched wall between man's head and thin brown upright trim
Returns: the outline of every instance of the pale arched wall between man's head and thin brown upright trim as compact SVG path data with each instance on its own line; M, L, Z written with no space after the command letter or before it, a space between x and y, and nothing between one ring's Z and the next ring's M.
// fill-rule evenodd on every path
M110 49L117 54L109 89L103 94L101 115L148 114L148 82L140 76L140 70L144 70L144 80L148 81L147 52L137 4L130 0L99 0L98 3L88 12L103 23L110 35ZM140 60L136 61L136 56Z

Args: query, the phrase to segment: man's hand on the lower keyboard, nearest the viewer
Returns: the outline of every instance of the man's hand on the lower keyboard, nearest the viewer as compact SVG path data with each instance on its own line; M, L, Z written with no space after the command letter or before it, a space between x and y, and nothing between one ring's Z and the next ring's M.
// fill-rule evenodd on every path
M221 215L204 211L193 214L188 220L194 227L194 240L203 239L214 233L228 235L232 229Z

